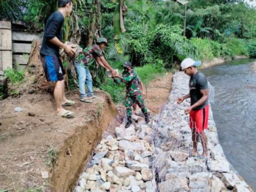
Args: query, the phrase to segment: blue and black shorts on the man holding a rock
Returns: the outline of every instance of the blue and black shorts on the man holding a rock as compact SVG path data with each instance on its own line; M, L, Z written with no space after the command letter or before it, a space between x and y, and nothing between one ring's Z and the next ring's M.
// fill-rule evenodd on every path
M40 56L47 81L62 81L65 70L60 59L57 56L42 54Z

